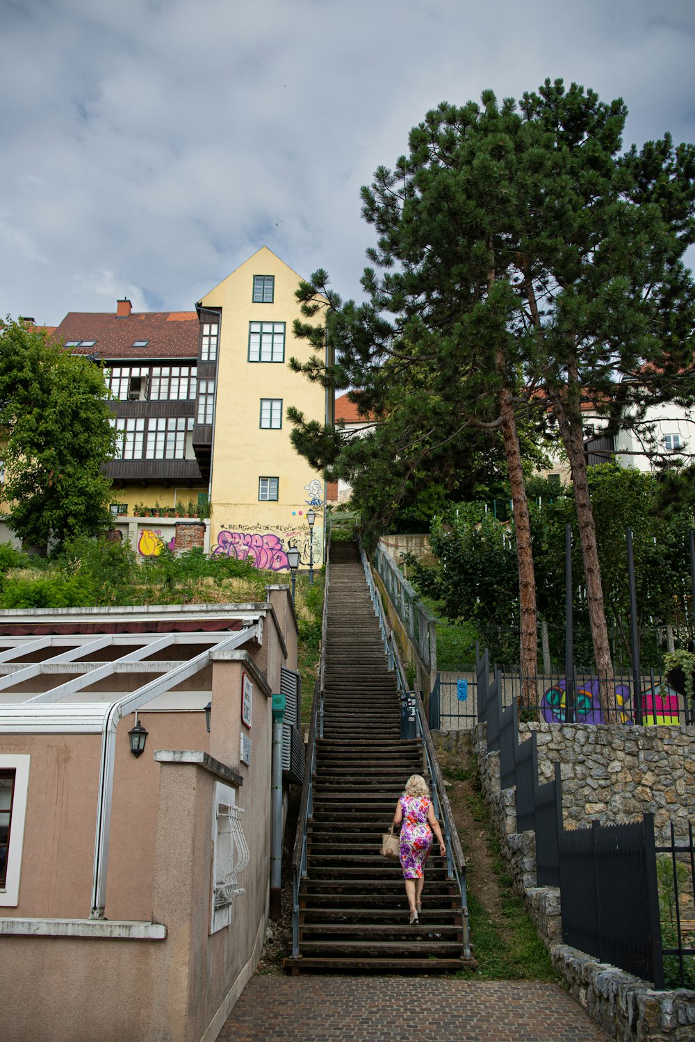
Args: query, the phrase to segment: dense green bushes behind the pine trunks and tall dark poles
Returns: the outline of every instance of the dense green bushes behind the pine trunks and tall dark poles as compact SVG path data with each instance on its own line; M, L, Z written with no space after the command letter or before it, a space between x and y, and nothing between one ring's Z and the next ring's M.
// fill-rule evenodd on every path
M625 529L632 529L639 624L643 665L662 662L664 649L655 640L657 624L676 631L685 626L690 601L688 539L692 525L690 495L692 468L671 475L668 499L662 497L663 477L605 464L589 470L589 487L597 527L606 615L614 638L614 655L628 662L629 600ZM678 494L680 490L681 494ZM541 616L549 628L555 661L564 655L565 527L572 525L578 543L577 519L570 495L542 498L530 504L531 535ZM487 644L493 659L516 662L518 655L518 584L514 528L496 522L483 504L450 506L432 525L430 537L437 565L408 559L408 576L418 592L433 598L436 612L449 622L472 624L475 639ZM575 658L591 663L592 642L584 596L579 554L573 553ZM439 631L438 625L438 661ZM455 627L451 641L456 640ZM448 649L443 646L447 662ZM676 656L685 652L676 652ZM458 659L455 665L465 662Z

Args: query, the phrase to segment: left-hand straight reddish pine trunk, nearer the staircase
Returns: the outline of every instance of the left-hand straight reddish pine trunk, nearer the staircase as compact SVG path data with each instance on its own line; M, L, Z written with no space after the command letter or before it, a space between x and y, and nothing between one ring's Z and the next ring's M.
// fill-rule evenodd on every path
M521 612L521 673L522 677L536 677L538 636L536 631L536 576L533 574L533 553L531 548L530 521L526 486L521 467L521 450L517 420L514 415L514 400L508 388L499 396L502 420L502 441L510 474L514 531L517 541L517 564L519 568L519 606ZM536 702L536 680L524 679L525 704Z

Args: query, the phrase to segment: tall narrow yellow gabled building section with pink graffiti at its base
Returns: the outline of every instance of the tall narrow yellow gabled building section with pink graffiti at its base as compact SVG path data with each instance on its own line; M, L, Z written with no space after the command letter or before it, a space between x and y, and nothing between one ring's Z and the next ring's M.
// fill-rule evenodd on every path
M295 405L307 419L332 422L332 398L290 368L291 357L304 362L313 353L293 332L299 280L263 247L197 305L193 445L201 471L209 467L210 549L274 570L288 567L292 546L302 567L312 543L315 564L323 555L324 481L293 449L287 420ZM316 514L313 536L308 511Z

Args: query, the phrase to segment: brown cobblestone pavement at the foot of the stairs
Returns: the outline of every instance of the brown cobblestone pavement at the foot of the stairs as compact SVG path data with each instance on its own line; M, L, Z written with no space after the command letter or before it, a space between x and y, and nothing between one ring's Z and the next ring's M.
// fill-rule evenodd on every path
M219 1042L605 1042L552 984L256 976Z

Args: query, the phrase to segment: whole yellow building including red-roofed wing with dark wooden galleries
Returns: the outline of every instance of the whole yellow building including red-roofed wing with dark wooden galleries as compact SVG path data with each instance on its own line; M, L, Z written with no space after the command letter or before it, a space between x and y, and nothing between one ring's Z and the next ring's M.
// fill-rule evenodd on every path
M124 299L70 312L53 331L104 369L119 435L113 523L143 556L203 545L282 571L296 546L301 568L312 553L321 565L325 485L292 447L287 411L332 422L332 395L290 368L315 353L293 333L299 281L263 247L195 311L138 313Z

